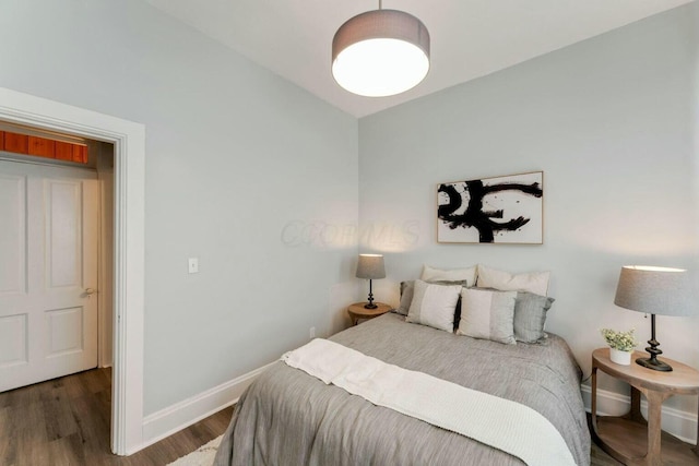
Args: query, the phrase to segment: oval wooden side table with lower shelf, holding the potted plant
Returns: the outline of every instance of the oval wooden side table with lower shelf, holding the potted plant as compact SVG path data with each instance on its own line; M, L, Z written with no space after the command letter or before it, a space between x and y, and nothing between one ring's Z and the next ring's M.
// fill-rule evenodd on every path
M699 394L699 372L682 362L662 358L673 367L660 372L636 363L647 357L635 351L630 366L609 359L609 348L592 353L592 438L602 450L625 465L699 465L699 447L663 432L661 409L673 395ZM597 370L631 385L631 409L620 417L597 416ZM648 421L641 415L641 393L648 401ZM699 439L699 426L697 428ZM661 452L662 440L662 452Z

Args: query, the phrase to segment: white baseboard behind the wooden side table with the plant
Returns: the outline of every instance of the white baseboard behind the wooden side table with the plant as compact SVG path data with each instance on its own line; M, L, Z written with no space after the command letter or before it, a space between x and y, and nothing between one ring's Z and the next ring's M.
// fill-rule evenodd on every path
M582 391L585 410L591 413L592 391L588 385L581 385L580 390ZM630 396L597 389L597 415L620 416L628 413L630 406ZM648 403L645 403L645 399L641 401L641 413L643 416L648 416ZM664 431L672 433L683 442L691 444L697 442L696 413L680 411L679 409L663 406L662 425Z

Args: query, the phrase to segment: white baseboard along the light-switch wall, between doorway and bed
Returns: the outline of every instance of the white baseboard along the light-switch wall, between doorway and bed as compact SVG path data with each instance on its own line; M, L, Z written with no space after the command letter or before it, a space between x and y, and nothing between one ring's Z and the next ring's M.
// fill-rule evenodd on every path
M272 362L273 363L273 362ZM183 402L143 418L143 450L166 437L224 409L240 398L242 392L272 363L235 378Z

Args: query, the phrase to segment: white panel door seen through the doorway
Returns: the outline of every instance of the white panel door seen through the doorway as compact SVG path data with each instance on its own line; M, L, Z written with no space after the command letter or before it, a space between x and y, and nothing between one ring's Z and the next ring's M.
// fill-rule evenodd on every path
M0 392L97 367L96 178L0 160Z

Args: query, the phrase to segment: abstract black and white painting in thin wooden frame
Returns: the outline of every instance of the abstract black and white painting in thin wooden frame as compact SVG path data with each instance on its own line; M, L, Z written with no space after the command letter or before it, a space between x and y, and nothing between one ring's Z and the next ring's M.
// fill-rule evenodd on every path
M437 241L543 243L544 172L441 183Z

